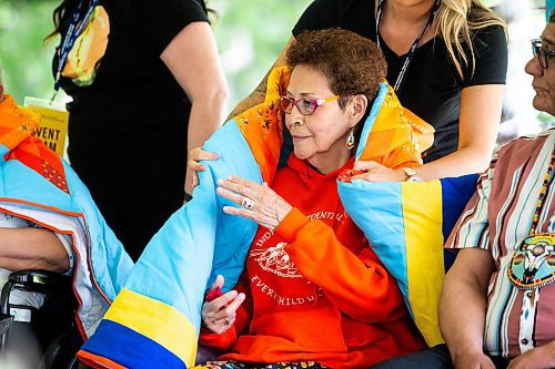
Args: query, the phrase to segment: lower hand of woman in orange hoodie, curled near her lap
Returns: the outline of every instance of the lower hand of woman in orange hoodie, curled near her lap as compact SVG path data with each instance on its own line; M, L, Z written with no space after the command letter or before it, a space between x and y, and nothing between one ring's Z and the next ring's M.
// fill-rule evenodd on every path
M210 287L210 291L223 287L223 276L219 275ZM202 322L214 334L221 335L235 321L236 310L245 299L244 294L230 290L222 296L202 305Z

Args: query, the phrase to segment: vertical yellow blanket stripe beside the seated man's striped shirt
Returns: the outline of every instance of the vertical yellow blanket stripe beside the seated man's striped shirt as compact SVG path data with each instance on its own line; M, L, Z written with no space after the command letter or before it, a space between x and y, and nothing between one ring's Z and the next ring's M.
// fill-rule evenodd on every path
M444 277L442 234L442 188L440 181L402 184L405 218L408 300L414 321L430 347L443 344L437 320ZM426 202L422 197L426 196ZM421 283L414 283L420 280ZM432 291L428 291L432 290ZM423 299L422 296L430 298ZM432 317L418 311L435 311ZM433 319L435 317L435 319Z

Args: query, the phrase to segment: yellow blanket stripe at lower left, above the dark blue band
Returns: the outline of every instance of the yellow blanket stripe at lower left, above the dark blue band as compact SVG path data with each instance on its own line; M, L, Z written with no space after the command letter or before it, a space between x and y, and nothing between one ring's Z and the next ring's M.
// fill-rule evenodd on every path
M173 352L188 368L194 366L198 332L176 309L123 288L104 319L133 329Z

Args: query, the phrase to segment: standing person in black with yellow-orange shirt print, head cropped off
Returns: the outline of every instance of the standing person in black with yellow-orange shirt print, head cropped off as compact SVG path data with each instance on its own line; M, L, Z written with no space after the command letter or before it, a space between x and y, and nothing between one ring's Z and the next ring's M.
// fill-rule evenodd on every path
M137 260L183 204L188 147L224 121L228 86L205 4L64 0L54 22L54 74L73 98L71 165Z

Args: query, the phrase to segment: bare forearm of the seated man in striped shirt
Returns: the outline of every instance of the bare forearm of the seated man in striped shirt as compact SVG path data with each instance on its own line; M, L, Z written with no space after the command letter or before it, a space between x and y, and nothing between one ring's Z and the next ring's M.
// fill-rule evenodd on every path
M440 327L453 361L470 352L482 352L486 295L467 278L445 277L440 304Z

